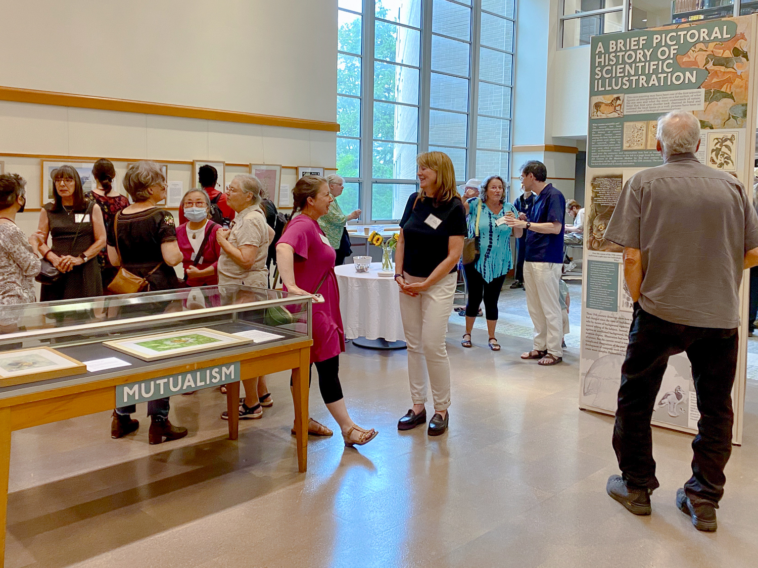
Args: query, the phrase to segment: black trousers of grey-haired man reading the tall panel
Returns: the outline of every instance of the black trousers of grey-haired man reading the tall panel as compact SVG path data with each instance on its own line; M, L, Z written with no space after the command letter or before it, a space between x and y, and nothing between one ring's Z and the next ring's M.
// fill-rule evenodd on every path
M684 491L695 505L705 502L718 507L724 495L724 467L731 454L731 385L737 350L737 329L671 323L634 304L613 429L613 449L628 486L650 491L659 486L650 419L669 357L684 352L692 364L700 410L698 434L692 442L692 477Z

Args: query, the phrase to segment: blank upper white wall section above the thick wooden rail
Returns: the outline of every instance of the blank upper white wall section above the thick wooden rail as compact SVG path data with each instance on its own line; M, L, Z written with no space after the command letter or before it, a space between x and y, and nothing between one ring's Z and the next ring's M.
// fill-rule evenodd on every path
M335 120L335 0L24 0L2 19L3 86Z

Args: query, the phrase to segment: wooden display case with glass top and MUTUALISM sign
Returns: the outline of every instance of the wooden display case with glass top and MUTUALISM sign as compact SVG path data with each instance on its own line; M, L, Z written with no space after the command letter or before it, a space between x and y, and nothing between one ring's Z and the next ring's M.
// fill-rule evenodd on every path
M0 567L11 432L291 370L298 470L307 467L312 298L206 286L0 307Z

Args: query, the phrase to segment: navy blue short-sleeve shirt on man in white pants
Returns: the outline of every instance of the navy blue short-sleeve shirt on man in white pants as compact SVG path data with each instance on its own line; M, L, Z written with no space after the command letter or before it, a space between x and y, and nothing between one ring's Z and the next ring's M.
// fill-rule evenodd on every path
M531 223L561 223L561 232L557 235L527 231L526 256L527 262L563 262L563 233L565 231L566 200L563 194L553 187L552 183L537 195L534 206L528 213Z

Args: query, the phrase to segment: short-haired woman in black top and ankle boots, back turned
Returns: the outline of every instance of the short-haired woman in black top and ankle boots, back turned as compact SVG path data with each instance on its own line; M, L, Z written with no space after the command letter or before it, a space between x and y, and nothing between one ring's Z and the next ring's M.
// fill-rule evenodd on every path
M147 160L133 164L124 176L124 188L134 203L119 211L108 227L111 264L146 278L153 292L179 288L173 267L182 261L182 251L177 244L174 216L156 206L166 198L166 179L161 167ZM169 422L168 410L168 397L147 403L151 444L187 435L186 428ZM139 421L130 417L134 411L133 405L114 410L111 438L122 438L139 428Z

